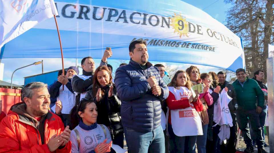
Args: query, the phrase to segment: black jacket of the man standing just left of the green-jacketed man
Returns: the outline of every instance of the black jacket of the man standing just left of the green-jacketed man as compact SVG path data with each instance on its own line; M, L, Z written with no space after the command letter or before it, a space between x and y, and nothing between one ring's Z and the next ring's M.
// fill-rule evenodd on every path
M221 83L219 83L219 86L221 86L221 91L225 87L228 88L227 94L228 94L229 97L233 98L231 100L231 102L228 103L228 108L229 108L229 111L230 111L231 114L236 113L236 109L238 107L238 104L237 104L237 95L236 95L234 87L227 81L225 81L225 83L223 85L221 85Z

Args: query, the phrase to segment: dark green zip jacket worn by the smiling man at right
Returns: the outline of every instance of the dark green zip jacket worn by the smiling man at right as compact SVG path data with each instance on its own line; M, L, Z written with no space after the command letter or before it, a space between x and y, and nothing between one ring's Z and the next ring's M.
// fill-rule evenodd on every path
M264 96L263 91L257 81L247 78L244 82L243 87L238 82L238 79L232 83L235 92L237 94L237 103L239 107L251 110L256 109L257 106L263 108ZM258 104L257 104L258 100Z

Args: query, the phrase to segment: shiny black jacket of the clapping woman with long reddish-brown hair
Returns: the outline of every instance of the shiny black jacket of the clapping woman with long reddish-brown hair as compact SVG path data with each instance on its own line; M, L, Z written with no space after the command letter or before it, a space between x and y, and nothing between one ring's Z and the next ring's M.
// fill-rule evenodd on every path
M100 102L96 101L96 96L93 94L93 88L90 86L88 92L86 93L86 98L94 99L97 106L98 116L97 123L106 125L110 127L112 133L117 135L120 132L123 132L123 126L121 123L121 118L119 116L121 101L117 97L116 88L113 88L113 96L108 97L109 86L103 88L104 96Z

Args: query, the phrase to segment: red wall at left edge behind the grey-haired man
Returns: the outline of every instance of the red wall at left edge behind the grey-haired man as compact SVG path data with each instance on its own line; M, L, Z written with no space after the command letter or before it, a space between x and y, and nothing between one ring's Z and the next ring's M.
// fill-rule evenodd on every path
M0 92L20 94L21 90L20 89L0 88ZM7 112L11 108L11 106L13 106L16 103L21 102L21 96L6 96L6 95L1 94L1 100L2 100L2 111L4 111L7 114Z

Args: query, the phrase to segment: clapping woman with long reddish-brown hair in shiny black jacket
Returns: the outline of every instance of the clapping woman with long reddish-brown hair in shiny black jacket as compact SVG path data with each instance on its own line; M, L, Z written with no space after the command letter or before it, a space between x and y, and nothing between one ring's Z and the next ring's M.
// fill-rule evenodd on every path
M121 101L112 83L112 75L106 66L98 67L94 72L93 84L88 88L86 98L96 102L97 123L106 125L112 136L113 144L124 147L124 129L119 116Z

